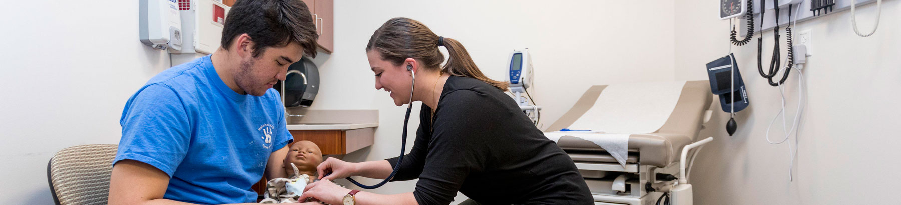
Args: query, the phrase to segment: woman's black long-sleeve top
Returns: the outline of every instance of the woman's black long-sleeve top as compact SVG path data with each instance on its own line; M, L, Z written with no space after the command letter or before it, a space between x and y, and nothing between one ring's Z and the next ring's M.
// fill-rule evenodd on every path
M420 205L450 204L457 192L486 205L593 204L569 156L494 86L451 76L433 129L431 117L423 104L413 150L393 179L418 178Z

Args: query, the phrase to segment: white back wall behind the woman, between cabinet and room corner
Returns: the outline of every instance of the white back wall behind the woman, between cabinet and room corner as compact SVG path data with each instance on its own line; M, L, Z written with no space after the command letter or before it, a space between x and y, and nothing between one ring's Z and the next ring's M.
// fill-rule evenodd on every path
M535 90L530 92L544 109L544 128L589 85L672 79L673 4L666 1L335 1L334 8L335 52L323 57L328 58L320 67L323 85L311 109L377 109L380 118L375 145L351 153L345 157L348 161L399 154L405 108L375 90L365 54L372 33L394 17L412 18L438 35L459 40L482 72L495 80L505 79L510 51L530 49L536 69ZM637 8L649 14L634 12ZM418 108L420 103L415 104ZM414 110L407 149L419 124L419 110ZM389 183L374 192L412 192L414 186Z

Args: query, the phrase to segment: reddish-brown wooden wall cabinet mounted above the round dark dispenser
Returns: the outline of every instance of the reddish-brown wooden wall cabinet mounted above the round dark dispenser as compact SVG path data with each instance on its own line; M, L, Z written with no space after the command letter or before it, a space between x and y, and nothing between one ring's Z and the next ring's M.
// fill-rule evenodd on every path
M334 2L333 0L303 0L313 14L313 22L319 34L319 51L334 51Z

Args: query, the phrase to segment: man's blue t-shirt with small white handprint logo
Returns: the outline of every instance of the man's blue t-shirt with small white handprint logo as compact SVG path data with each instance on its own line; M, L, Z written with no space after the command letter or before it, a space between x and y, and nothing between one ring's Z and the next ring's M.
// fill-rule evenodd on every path
M234 93L210 56L154 76L125 104L119 123L113 165L152 165L169 176L164 199L198 204L256 202L250 187L269 155L293 140L278 92Z

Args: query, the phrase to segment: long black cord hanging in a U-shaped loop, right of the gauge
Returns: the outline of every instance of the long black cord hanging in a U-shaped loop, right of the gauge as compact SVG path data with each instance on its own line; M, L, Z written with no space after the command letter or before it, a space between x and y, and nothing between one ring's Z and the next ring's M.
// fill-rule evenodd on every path
M782 79L780 79L778 83L773 82L773 77L775 77L779 72L779 63L780 63L779 60L781 59L779 56L779 7L778 7L778 0L773 0L773 7L774 7L774 10L776 11L776 26L773 29L773 40L774 40L773 57L772 57L772 60L769 61L769 72L768 73L763 72L762 55L763 55L763 14L764 13L762 11L766 10L765 5L766 5L765 1L764 1L764 4L760 5L760 11L761 11L760 12L760 38L757 39L757 42L758 42L758 44L757 44L757 70L760 72L760 76L763 76L763 78L767 78L767 80L769 81L769 85L775 87L778 85L785 84L786 80L788 79L788 74L791 72L791 68L795 64L795 60L794 60L795 55L794 55L794 49L792 49L791 28L786 28L786 32L788 34L788 37L787 37L787 40L788 40L788 57L787 57L788 58L788 67L786 68L785 74L782 75ZM791 9L792 9L792 5L788 5L788 22L791 22ZM791 26L791 24L789 24L789 26Z

